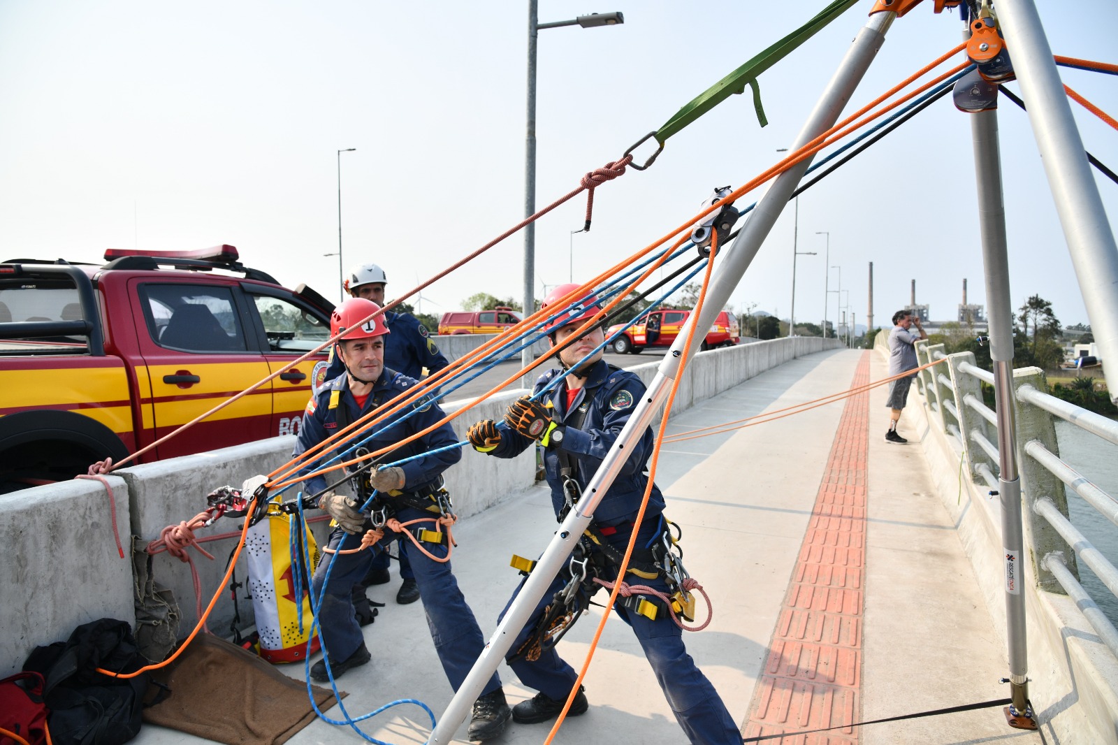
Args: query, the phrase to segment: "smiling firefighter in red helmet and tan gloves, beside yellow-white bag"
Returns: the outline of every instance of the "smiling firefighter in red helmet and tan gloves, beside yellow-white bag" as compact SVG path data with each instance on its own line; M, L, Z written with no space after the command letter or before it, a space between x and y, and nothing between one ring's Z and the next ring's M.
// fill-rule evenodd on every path
M385 367L385 337L389 334L389 329L379 317L368 322L363 321L379 309L376 303L360 298L347 300L334 309L330 322L331 336L351 329L338 342L335 350L345 374L328 383L311 399L303 415L303 426L295 444L296 455L415 386L416 381L413 378ZM402 418L407 412L415 413ZM442 409L434 404L418 412L405 407L399 414L372 425L369 434L376 432L379 434L362 446L370 452L391 447L416 432L436 424L443 417ZM377 494L372 510L378 520L385 516L381 510L387 510L388 517L395 513L400 522L445 515L448 510L448 500L445 499L445 490L442 490L442 473L458 462L462 451L457 447L438 453L430 451L457 442L458 438L451 425L443 424L414 442L397 446L386 456L392 461L414 455L421 458L400 466L380 466L367 470L363 474L354 474L360 487L359 501L334 492L324 493L319 507L338 522L338 527L330 534L328 547L337 549L347 536L349 539L341 548L357 548L360 545L361 535L371 529L373 522L370 515L360 512L359 508L369 497L373 497L373 490ZM325 455L324 453L323 458ZM314 464L309 464L301 472L309 473L314 469ZM305 493L309 494L321 492L325 488L326 480L323 475L312 477L304 483ZM434 524L420 522L408 530L424 541L426 551L439 558L446 557L449 550L446 546L446 534L434 531L433 528ZM364 644L361 626L358 624L351 588L368 570L373 553L382 551L390 541L402 537L402 532L394 534L387 527L383 530L383 538L371 549L356 554L337 554L332 557L328 555L315 569L312 581L315 597L320 596L325 585L325 593L321 595L322 601L319 606L319 623L322 643L329 652L334 678L350 668L364 664L371 658ZM410 538L408 540L410 541ZM330 558L333 558L332 568ZM435 651L451 686L457 690L484 648L481 629L462 591L458 590L449 562L436 562L423 551L416 550L411 554L411 566L423 597ZM315 680L329 680L325 659L311 668L311 677ZM501 681L494 673L483 689L481 698L474 702L470 725L471 739L484 741L496 737L504 730L509 715Z

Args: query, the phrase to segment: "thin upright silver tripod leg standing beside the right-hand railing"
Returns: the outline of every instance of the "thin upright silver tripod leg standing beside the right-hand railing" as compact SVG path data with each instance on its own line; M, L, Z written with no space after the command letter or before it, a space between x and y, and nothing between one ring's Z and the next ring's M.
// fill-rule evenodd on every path
M998 153L997 110L970 116L978 183L978 224L982 233L986 302L989 307L989 353L994 360L994 396L997 400L997 453L1001 472L1002 546L1005 549L1005 619L1008 639L1010 685L1013 708L1029 711L1029 650L1025 644L1025 596L1021 521L1021 478L1017 472L1016 407L1013 395L1013 304L1006 255L1005 208L1002 200L1002 163ZM1031 713L1030 713L1031 714Z

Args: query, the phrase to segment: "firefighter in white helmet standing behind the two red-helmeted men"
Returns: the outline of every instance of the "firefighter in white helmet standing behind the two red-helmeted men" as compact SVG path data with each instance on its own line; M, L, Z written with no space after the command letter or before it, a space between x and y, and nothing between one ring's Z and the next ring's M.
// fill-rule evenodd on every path
M385 304L385 285L388 276L377 264L360 264L350 268L342 289L353 298L364 298L378 305ZM427 328L410 313L397 313L386 311L385 322L392 330L391 336L385 342L385 365L397 372L402 372L409 378L418 380L423 377L423 369L426 367L428 374L437 372L451 362L438 351L438 347L430 339ZM341 360L331 355L330 367L326 369L326 380L332 380L345 368ZM401 605L414 603L419 600L419 590L416 587L415 574L408 563L407 543L401 540L397 547L400 557L400 588L396 593L396 602ZM369 567L368 574L362 577L360 588L354 592L364 592L368 585L380 585L389 582L388 566L390 564L388 551L378 554Z

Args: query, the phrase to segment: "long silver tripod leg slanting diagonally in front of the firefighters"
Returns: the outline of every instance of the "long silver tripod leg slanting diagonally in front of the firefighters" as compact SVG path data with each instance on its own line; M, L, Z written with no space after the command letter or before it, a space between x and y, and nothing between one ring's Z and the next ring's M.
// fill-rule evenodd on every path
M843 58L839 70L831 79L815 110L808 116L807 123L800 131L799 136L796 139L795 147L797 149L830 129L839 120L843 106L850 100L854 88L858 87L874 55L884 41L884 34L892 23L893 18L896 18L896 13L893 12L875 13L871 16L869 23L859 31L850 50ZM536 607L548 585L551 584L552 578L558 574L567 557L570 556L575 544L578 543L582 531L590 524L595 509L609 489L617 472L625 464L628 454L628 451L625 450L625 444L641 437L644 430L652 422L659 405L667 397L672 380L679 370L682 356L684 353L688 356L693 355L702 341L704 333L695 334L693 330L695 328L708 329L713 323L714 317L721 311L727 301L729 301L730 294L741 280L754 256L757 255L761 243L773 228L777 217L779 217L780 210L787 205L792 192L809 164L811 159L806 159L777 177L765 196L757 202L757 207L738 234L737 239L728 249L722 252L726 258L718 273L711 279L711 285L707 291L707 300L703 304L701 318L695 313L691 314L688 332L679 336L675 343L672 345L670 352L664 357L664 361L661 364L655 379L648 386L646 395L637 403L633 416L629 417L617 442L601 462L594 479L590 480L590 483L584 490L578 509L570 511L559 531L537 562L532 574L529 575L523 587L521 587L517 601L509 607L508 613L505 613L501 623L498 624L496 631L493 632L481 657L477 658L477 662L474 663L473 669L466 676L454 698L451 699L451 704L446 707L443 717L427 741L429 744L445 745L449 743L455 729L465 720L473 701L481 694L493 671L501 664L509 648L512 645L513 639L515 639L517 634L520 633L520 630L528 622L532 609ZM690 343L688 343L688 339L690 339Z

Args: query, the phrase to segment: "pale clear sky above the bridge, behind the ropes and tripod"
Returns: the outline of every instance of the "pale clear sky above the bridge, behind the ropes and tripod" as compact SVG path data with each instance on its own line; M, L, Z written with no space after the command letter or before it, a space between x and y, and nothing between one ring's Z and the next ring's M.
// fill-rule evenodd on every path
M610 0L613 2L613 0ZM627 3L627 4L626 4ZM826 4L541 0L541 22L620 10L625 25L540 31L537 201L577 186L692 97ZM760 77L768 126L732 96L669 140L645 172L537 227L543 283L589 276L739 186L789 147L871 0ZM413 287L522 217L527 2L0 0L0 260L100 261L107 247L233 244L282 283L338 293L338 154L345 264ZM1118 62L1118 3L1038 0L1055 54ZM928 0L889 31L849 111L960 40ZM1118 78L1062 69L1118 115ZM1020 93L1020 86L1010 86ZM1118 132L1072 104L1088 150L1118 170ZM999 112L1014 305L1039 293L1086 322L1027 119ZM643 152L643 151L641 151ZM1111 225L1118 186L1098 177ZM842 300L864 322L909 301L950 319L963 279L985 302L967 115L946 97L799 199L796 318L823 317L825 239ZM742 199L739 206L752 201ZM572 253L571 253L572 246ZM787 209L732 303L788 315ZM424 292L425 312L485 291L522 294L518 235ZM839 272L831 273L836 289ZM849 291L849 292L846 292ZM830 318L835 319L835 295Z

